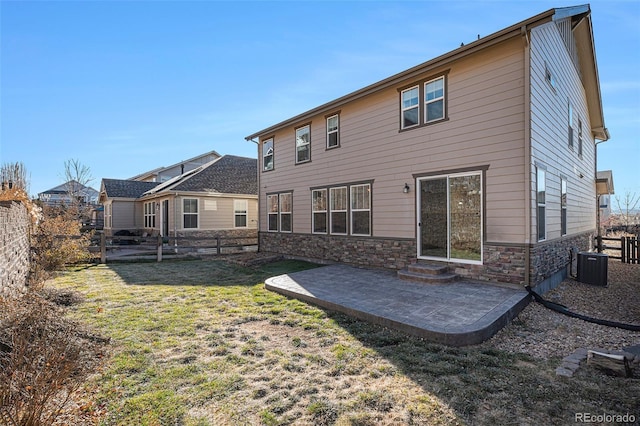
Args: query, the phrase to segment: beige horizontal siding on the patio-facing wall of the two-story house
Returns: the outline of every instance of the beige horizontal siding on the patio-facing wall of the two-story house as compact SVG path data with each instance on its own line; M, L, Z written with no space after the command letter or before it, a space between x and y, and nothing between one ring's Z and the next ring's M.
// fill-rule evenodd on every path
M398 90L447 70L449 119L399 131ZM275 160L274 170L260 176L261 230L267 229L267 193L293 191L293 232L311 233L310 188L373 181L372 235L415 238L414 174L488 166L486 239L522 242L523 84L524 51L517 39L343 105L339 148L325 149L324 114L313 117L310 163L295 165L295 125L265 135L274 137ZM411 187L408 194L402 191L405 183Z

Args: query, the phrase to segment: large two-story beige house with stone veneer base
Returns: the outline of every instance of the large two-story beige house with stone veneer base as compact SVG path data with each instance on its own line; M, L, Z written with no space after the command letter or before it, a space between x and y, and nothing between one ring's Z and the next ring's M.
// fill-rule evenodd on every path
M260 250L553 286L608 137L590 8L551 9L248 136Z

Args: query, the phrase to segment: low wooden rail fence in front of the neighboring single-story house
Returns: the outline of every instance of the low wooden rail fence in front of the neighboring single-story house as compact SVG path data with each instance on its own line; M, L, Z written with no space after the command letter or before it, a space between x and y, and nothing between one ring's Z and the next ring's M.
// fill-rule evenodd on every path
M106 263L108 258L135 258L152 256L162 262L165 256L206 254L220 255L225 253L255 250L258 247L257 237L135 237L111 236L100 234L100 262ZM98 247L94 246L97 251ZM121 252L124 255L119 256ZM110 253L110 255L108 254Z

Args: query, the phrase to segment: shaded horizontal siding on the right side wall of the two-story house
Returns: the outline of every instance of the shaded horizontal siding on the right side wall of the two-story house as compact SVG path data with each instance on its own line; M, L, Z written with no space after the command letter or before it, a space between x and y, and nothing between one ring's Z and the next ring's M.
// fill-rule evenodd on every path
M545 63L556 80L545 79ZM567 101L575 115L574 146L569 148ZM579 74L554 22L531 31L531 156L532 166L547 169L547 240L561 236L560 179L567 180L567 235L595 228L595 145L590 132L586 96ZM578 118L582 121L582 158L578 156ZM582 177L581 177L582 176ZM535 191L535 167L532 167ZM532 192L531 238L536 237L535 193Z

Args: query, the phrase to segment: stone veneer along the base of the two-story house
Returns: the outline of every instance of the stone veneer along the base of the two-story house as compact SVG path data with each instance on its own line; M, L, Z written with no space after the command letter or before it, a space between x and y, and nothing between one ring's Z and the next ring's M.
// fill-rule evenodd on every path
M529 265L532 287L549 279L566 277L571 249L591 249L593 235L593 232L588 232L533 244ZM316 262L340 262L375 268L402 269L416 261L415 240L408 239L260 232L259 247L262 252ZM485 243L482 265L447 264L452 272L468 279L524 285L525 259L524 245Z

